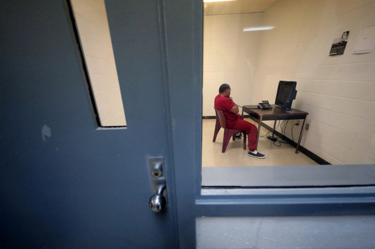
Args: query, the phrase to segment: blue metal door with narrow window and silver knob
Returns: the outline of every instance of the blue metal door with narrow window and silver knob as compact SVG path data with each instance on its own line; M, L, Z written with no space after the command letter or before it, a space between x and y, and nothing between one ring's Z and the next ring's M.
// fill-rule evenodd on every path
M96 127L64 0L0 5L0 247L178 248L168 3L106 2L126 129ZM150 157L164 158L160 213Z

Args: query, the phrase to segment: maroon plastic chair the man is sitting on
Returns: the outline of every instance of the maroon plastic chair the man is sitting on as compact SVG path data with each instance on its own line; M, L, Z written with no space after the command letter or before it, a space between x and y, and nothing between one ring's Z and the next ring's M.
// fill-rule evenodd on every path
M225 153L226 146L228 146L229 140L232 137L233 141L236 140L236 133L243 134L243 149L246 149L246 131L241 131L237 129L226 128L226 118L222 110L215 109L216 112L216 125L214 132L214 139L212 142L216 141L220 128L224 129L223 136L223 149L222 152Z

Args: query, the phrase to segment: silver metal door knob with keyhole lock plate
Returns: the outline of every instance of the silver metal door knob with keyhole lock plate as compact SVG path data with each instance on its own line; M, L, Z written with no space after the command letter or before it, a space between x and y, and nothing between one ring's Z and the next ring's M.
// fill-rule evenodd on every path
M161 157L150 158L151 185L154 194L150 198L149 205L153 212L160 212L168 203L163 164L164 159Z

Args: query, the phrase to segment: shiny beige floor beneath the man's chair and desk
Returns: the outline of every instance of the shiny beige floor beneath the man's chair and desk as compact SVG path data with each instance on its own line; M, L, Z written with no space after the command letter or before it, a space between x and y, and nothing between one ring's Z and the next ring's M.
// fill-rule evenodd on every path
M264 159L249 157L248 149L243 150L242 139L230 140L225 153L222 153L223 129L220 129L216 142L212 142L215 122L216 119L202 121L202 167L317 165L301 152L296 154L293 146L281 143L278 147L266 138L260 138L258 143L258 151L266 156ZM267 132L262 128L261 134L265 135Z

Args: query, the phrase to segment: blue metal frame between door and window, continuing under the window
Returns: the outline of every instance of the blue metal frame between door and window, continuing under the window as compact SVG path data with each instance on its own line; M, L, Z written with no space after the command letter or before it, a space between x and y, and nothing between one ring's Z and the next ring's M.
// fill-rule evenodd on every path
M165 0L163 6L180 249L196 246L195 218L200 216L375 214L374 186L202 193L203 4Z

